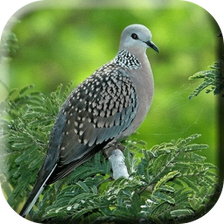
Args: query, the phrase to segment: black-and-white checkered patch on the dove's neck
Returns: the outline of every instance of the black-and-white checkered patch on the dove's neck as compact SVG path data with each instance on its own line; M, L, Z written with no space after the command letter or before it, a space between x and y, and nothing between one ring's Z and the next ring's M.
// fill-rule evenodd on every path
M138 69L141 67L140 61L127 50L119 51L114 58L114 63L129 69Z

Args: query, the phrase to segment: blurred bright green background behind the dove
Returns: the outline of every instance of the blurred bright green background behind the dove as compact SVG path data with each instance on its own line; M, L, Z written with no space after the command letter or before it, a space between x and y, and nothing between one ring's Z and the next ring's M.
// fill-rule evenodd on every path
M147 50L155 95L146 120L132 138L146 141L151 148L199 133L198 142L209 145L203 154L217 165L216 97L202 93L188 99L200 83L188 77L216 60L217 33L212 20L212 14L193 3L145 10L32 11L12 29L18 49L9 54L9 89L35 84L36 91L50 94L61 83L72 81L75 87L113 59L124 27L144 24L152 31L160 53Z

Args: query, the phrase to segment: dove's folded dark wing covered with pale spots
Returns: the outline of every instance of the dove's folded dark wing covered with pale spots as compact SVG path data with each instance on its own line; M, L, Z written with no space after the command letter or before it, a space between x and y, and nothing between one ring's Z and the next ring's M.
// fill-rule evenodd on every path
M48 184L68 175L119 136L137 109L135 86L125 70L113 63L81 83L63 104L51 135L48 157L57 157L57 167Z

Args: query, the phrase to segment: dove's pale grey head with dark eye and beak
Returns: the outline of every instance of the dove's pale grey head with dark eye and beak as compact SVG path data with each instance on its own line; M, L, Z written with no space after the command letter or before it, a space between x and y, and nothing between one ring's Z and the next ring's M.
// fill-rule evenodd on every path
M152 33L146 26L132 24L123 30L119 50L143 53L148 47L159 52L158 47L152 42Z

